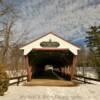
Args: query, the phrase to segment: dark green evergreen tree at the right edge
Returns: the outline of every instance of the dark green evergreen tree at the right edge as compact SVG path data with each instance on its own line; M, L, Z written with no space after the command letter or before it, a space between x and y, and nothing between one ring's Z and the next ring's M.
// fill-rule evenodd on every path
M95 58L93 63L95 66L100 66L100 26L91 26L87 34L87 46Z

